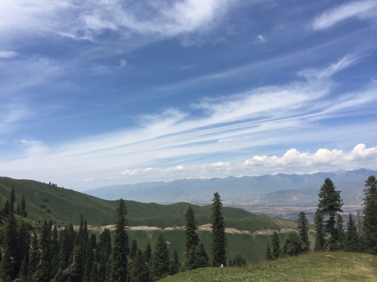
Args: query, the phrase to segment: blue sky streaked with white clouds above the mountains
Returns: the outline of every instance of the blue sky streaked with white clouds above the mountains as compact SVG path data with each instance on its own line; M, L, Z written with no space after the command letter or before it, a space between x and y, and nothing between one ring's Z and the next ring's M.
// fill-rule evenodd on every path
M377 0L0 2L0 176L377 169Z

